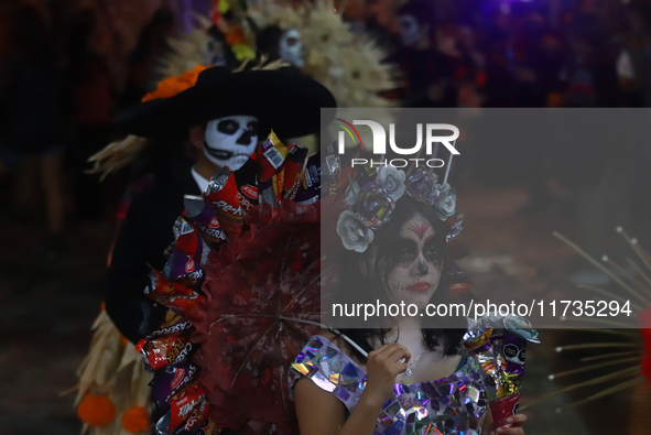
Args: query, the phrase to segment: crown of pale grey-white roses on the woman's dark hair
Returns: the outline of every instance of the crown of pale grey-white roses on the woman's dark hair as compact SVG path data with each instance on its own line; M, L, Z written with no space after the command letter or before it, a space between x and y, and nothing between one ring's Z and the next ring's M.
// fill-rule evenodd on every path
M375 180L361 187L356 181L350 182L345 198L350 208L343 211L337 221L337 233L344 247L365 252L373 241L375 230L391 219L395 202L404 193L435 208L438 218L448 226L446 242L462 232L463 216L456 211L457 197L449 184L440 184L438 176L425 167L415 170L406 178L403 171L380 166Z

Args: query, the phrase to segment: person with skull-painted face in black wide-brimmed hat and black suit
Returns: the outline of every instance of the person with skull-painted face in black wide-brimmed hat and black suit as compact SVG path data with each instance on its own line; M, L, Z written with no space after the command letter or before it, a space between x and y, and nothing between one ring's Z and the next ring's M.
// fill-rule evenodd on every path
M143 296L150 265L162 270L163 252L173 242L170 231L183 211L184 195L199 195L223 166L240 170L273 128L279 138L314 134L321 108L335 107L333 95L315 80L284 70L231 73L225 67L202 72L197 83L171 98L156 99L116 116L121 130L156 141L188 143L191 167L162 180L130 206L120 229L108 273L106 309L132 342L142 337L143 304L162 309Z

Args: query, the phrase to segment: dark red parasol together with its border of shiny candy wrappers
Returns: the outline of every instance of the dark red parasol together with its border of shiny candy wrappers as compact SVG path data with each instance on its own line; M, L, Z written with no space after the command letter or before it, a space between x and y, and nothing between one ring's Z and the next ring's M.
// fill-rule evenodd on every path
M147 290L169 315L148 318L138 345L162 410L154 433L297 433L287 367L321 316L319 204L289 199L305 194L305 163L272 132L240 170L217 170L203 197L186 197Z

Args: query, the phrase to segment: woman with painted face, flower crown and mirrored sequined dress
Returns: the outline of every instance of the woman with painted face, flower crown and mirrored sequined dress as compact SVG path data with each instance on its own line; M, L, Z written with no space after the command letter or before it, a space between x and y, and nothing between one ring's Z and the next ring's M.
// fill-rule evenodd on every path
M337 270L322 292L339 293L333 301L343 309L404 304L423 313L469 296L454 262L462 218L445 180L431 168L365 167L345 192L333 219L341 246L322 254L322 267ZM517 403L524 361L508 368L501 355L516 330L497 317L469 329L463 320L427 323L389 309L349 329L321 329L290 370L300 433L523 434ZM525 341L513 340L520 349ZM518 385L504 382L516 372Z

